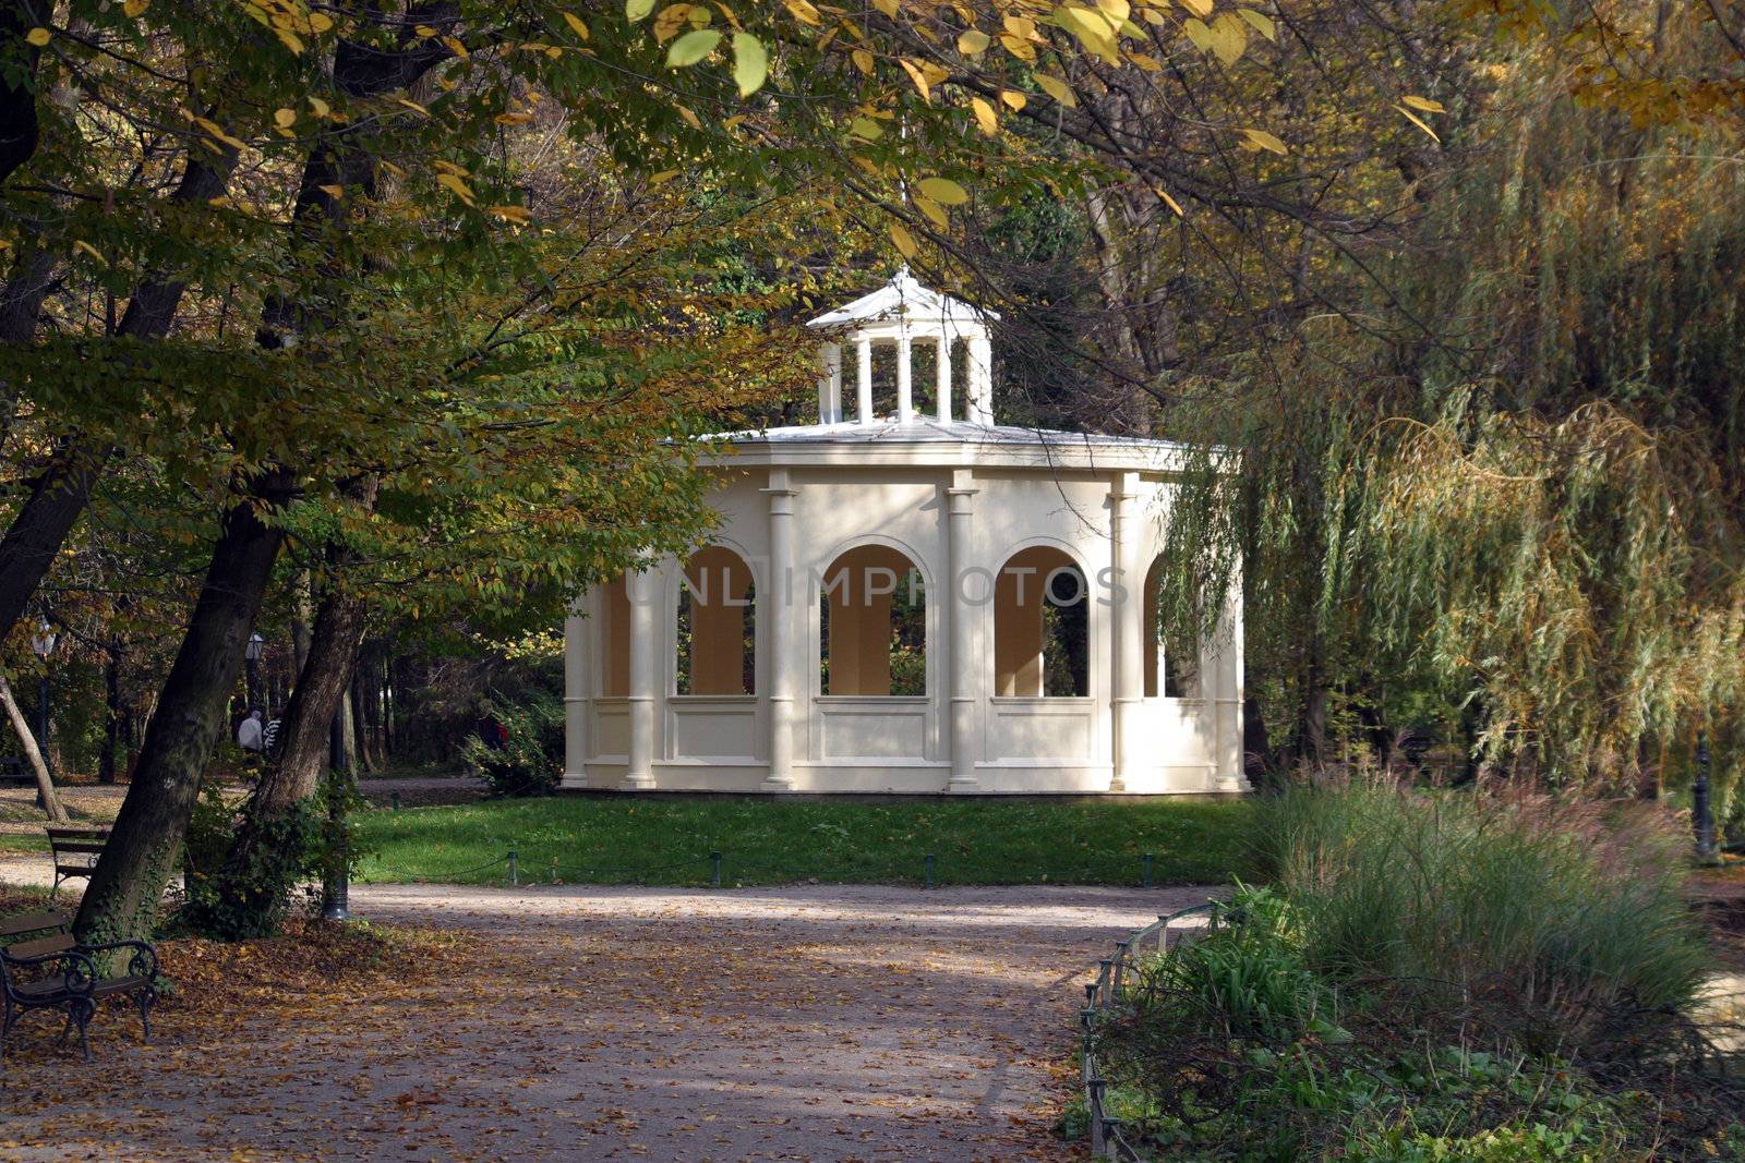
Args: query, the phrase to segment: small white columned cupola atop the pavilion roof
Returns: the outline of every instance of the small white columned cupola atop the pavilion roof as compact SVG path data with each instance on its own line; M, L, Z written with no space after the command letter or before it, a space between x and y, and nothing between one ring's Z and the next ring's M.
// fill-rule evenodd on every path
M961 420L993 427L993 357L988 323L991 310L932 291L899 267L890 282L846 307L818 316L808 328L829 337L824 345L824 371L818 378L818 424L874 424L872 415L872 345L888 343L897 352L897 424L913 424L914 347L934 347L934 411L941 424ZM961 343L961 385L953 385L953 349ZM853 352L853 417L843 415L843 357ZM953 396L961 403L955 403ZM958 413L953 410L958 408Z

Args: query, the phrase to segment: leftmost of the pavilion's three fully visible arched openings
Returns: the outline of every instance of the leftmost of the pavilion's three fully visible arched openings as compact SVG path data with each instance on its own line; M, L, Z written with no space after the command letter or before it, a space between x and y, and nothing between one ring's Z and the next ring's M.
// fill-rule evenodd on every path
M684 563L679 582L677 694L756 694L757 616L752 570L726 546Z

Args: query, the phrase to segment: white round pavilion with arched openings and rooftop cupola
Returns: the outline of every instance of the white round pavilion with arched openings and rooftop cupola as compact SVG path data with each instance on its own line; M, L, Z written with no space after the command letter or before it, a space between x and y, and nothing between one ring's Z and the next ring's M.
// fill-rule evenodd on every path
M810 323L817 424L735 434L712 542L572 607L565 788L1248 790L1239 598L1155 631L1183 448L996 424L996 317L899 270Z

